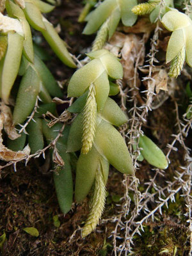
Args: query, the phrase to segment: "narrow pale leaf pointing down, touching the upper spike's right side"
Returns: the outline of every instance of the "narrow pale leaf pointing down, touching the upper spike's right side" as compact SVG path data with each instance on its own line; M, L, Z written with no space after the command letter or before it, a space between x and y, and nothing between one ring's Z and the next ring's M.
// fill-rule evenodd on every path
M95 80L94 84L97 108L101 111L109 95L109 80L107 72L102 72L102 74Z

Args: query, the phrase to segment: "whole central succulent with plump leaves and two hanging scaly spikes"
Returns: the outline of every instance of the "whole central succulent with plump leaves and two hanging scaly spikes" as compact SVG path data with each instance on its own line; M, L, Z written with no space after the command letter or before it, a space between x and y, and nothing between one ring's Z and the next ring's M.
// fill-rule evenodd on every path
M77 202L81 202L94 185L92 207L83 228L83 237L95 229L104 209L109 164L122 173L133 172L125 141L113 127L127 122L127 116L108 97L109 77L122 78L122 65L106 50L87 55L91 61L77 70L68 84L68 96L79 97L68 108L68 111L79 114L72 123L67 141L67 152L81 149L76 171Z

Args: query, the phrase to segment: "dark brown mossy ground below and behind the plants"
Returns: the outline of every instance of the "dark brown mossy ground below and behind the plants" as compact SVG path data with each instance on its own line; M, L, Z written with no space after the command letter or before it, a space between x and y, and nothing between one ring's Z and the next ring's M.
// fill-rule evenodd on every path
M66 38L66 42L71 47L70 51L74 54L90 47L94 38L94 36L81 35L84 24L77 23L81 6L80 1L66 0L49 16L53 24L60 22L61 35ZM41 44L45 49L49 49L44 41ZM53 61L47 64L51 70L54 70L54 76L60 81L68 79L73 72L54 57ZM181 97L180 102L182 101ZM146 134L156 138L159 147L165 148L167 143L172 141L171 134L175 132L172 119L173 107L173 102L167 100L161 108L148 116L144 130ZM63 105L59 110L62 111L64 108L66 106ZM190 145L189 140L188 145ZM179 154L171 154L172 166L166 173L166 179L173 180L174 170L183 164L183 157L184 152L180 147ZM140 179L139 190L142 192L146 188L145 182L152 177L150 166L146 161L142 163L136 175ZM22 163L17 164L17 172L14 172L12 166L4 169L0 180L0 236L5 233L6 240L1 243L0 238L0 255L112 255L111 232L115 229L115 223L107 220L118 216L120 209L118 205L121 204L120 198L124 195L122 179L123 175L111 168L106 209L102 216L106 221L97 228L97 232L82 239L78 227L82 227L83 221L86 220L87 200L83 204L74 204L72 211L63 216L56 199L52 172L43 159L33 159L27 166ZM163 183L163 178L159 177L158 184ZM134 195L130 192L129 196L133 198ZM148 207L152 209L152 203ZM154 221L148 220L143 225L145 232L140 230L141 236L138 234L134 236L134 246L130 255L188 255L189 234L186 218L184 218L185 212L184 198L177 194L175 202L170 203L168 209L163 207L162 215L156 214ZM54 216L58 216L59 221L56 221L57 218ZM30 236L24 232L25 227L37 228L39 236ZM74 233L75 230L77 230L76 233Z

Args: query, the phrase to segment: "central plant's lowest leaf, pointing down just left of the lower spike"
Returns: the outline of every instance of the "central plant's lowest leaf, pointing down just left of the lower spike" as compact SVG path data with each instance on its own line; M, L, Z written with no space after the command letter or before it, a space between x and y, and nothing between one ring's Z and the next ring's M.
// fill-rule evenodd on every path
M77 161L76 172L76 201L81 202L88 195L95 180L95 173L99 164L99 153L92 147L88 154L81 154Z

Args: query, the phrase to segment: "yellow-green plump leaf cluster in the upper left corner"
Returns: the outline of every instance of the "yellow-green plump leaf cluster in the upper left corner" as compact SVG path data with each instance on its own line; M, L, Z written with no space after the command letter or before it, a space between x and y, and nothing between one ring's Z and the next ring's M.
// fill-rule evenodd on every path
M42 15L42 12L51 12L54 6L36 0L24 1L24 5L21 6L17 2L15 1L13 3L13 1L6 0L6 12L8 16L0 13L0 94L6 103L8 103L10 92L19 72L22 56L31 63L31 66L33 66L35 61L31 28L29 25L42 32L42 35L44 35L53 51L63 63L69 67L76 67L63 40L61 40L52 24Z

